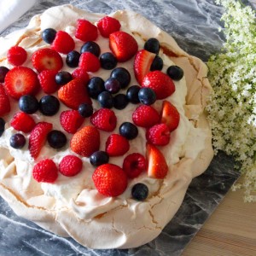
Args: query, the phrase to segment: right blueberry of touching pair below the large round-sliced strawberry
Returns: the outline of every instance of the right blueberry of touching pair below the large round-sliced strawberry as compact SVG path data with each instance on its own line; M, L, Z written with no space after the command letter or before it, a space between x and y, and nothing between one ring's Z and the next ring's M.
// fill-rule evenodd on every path
M47 116L52 116L59 111L60 102L52 95L43 96L39 102L39 110Z

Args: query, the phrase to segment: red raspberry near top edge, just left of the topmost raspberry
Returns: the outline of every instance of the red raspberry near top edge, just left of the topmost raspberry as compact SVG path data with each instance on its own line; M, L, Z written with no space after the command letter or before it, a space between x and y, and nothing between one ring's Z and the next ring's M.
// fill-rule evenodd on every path
M90 23L88 20L79 19L77 21L77 29L75 37L81 41L95 41L98 36L97 27Z

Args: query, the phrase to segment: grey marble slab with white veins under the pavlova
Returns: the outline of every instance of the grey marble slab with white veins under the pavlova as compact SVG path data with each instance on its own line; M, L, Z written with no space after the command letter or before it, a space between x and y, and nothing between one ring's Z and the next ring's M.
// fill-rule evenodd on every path
M189 54L204 61L220 49L224 39L218 32L222 9L212 0L40 0L0 36L26 26L32 15L64 3L106 14L117 9L134 10L171 34ZM142 247L129 250L82 247L71 238L55 236L17 217L0 198L0 255L180 255L237 177L234 161L219 153L207 172L192 181L182 206L160 236Z

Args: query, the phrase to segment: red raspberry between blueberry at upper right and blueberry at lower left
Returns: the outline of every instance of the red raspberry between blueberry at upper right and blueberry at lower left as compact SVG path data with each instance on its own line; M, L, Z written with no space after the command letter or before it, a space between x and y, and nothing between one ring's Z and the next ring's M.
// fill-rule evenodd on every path
M119 134L111 134L106 142L105 151L109 156L125 154L130 149L129 141Z

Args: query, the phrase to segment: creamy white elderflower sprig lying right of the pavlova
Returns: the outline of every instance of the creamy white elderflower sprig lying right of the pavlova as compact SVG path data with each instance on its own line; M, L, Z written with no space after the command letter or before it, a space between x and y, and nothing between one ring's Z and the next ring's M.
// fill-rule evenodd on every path
M256 20L255 11L236 0L217 0L224 7L226 42L207 65L213 93L207 111L215 151L233 154L241 163L245 201L256 201Z

